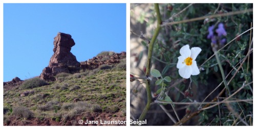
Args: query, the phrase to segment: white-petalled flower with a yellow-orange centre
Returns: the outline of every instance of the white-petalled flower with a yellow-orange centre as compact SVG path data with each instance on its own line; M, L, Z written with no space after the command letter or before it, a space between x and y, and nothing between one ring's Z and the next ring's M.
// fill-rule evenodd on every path
M191 75L198 75L200 73L195 59L201 51L202 49L199 47L194 47L190 50L188 45L180 49L181 56L178 57L177 68L181 77L187 79Z

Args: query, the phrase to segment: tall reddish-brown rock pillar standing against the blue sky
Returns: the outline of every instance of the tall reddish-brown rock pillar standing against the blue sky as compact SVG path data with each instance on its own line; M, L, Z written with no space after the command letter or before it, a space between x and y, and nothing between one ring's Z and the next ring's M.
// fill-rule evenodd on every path
M49 66L42 70L40 74L41 79L45 79L48 81L54 81L54 76L60 72L70 73L71 70L80 67L80 63L76 60L76 56L74 56L70 51L71 47L75 45L75 42L70 34L58 33L56 37L54 37L54 48Z

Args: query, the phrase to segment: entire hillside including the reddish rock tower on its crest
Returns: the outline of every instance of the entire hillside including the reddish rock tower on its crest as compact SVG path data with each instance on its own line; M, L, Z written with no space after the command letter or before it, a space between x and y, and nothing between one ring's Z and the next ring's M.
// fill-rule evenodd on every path
M54 52L62 53L61 41ZM126 53L101 52L84 62L70 53L75 63L54 54L40 76L4 82L4 125L125 125L78 121L126 120Z

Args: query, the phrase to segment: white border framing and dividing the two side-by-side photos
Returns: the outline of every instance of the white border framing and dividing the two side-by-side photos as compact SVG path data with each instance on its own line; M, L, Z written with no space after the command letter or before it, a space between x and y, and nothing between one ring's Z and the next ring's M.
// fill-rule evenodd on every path
M29 1L29 0L25 0L25 1L18 1L18 0L2 0L0 1L0 59L1 59L1 63L0 63L0 71L2 72L0 74L0 82L2 83L2 87L0 88L0 109L3 109L3 3L126 3L126 120L127 120L127 126L121 126L121 128L130 128L132 126L130 126L129 121L130 121L130 3L191 3L192 1L187 1L187 0L175 0L175 1L152 1L152 0L148 0L148 1L140 1L140 0L130 0L130 1L124 1L124 0L109 0L109 1L103 1L103 0L94 0L94 1L80 1L80 0L38 0L38 1ZM193 1L193 3L254 3L252 0L248 1L248 0L243 0L243 1L220 1L220 0L215 0L215 1ZM253 11L255 11L255 9L253 9ZM255 17L255 16L253 16ZM254 18L253 18L254 20ZM255 35L255 34L254 34ZM253 53L253 57L255 58L256 55ZM253 59L254 60L254 59ZM253 67L254 66L254 61L253 61ZM254 78L254 77L253 77ZM255 80L255 79L253 79ZM255 106L253 107L253 111L255 111ZM255 121L255 120L254 120ZM253 121L253 125L255 125L255 122ZM0 116L0 126L3 126L3 110L1 112L1 116ZM4 126L4 128L12 128L13 126ZM14 126L17 127L17 126ZM18 128L34 128L35 126L18 126ZM46 126L36 126L37 128L46 128ZM55 126L47 126L47 128L54 128ZM73 126L60 126L61 128L73 128ZM76 128L84 128L84 127L88 127L88 126L75 126ZM93 128L102 128L103 126L93 126ZM104 126L104 128L120 128L120 126ZM138 127L138 126L137 126ZM170 126L154 126L154 128L170 128ZM181 128L185 127L185 128L191 128L191 127L199 127L199 128L205 128L205 126L180 126ZM180 128L177 127L177 128ZM223 126L222 126L223 127ZM237 127L243 127L243 126L224 126L225 128L237 128ZM3 128L3 127L1 127ZM91 128L91 127L89 127ZM148 128L147 126L140 126L140 128ZM216 128L216 126L207 126L207 128ZM249 126L249 128L252 128L252 126Z

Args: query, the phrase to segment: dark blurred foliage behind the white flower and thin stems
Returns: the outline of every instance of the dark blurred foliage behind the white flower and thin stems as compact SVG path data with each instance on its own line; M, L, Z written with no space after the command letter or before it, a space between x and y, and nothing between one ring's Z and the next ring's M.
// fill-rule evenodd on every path
M159 4L159 8L164 24L201 16L252 9L252 4ZM181 12L183 9L185 10ZM145 67L147 58L147 41L152 38L156 28L156 12L154 10L154 4L131 4L130 11L131 74L135 77L143 77L145 76L143 68ZM179 15L176 15L178 13ZM226 45L239 34L251 28L252 12L206 18L195 22L162 27L153 50L152 69L160 71L163 77L168 76L171 78L171 82L164 82L167 85L166 87L181 79L176 68L178 56L180 56L180 48L188 44L190 48L200 47L202 49L196 59L197 65L202 71L197 76L191 76L193 81L191 85L193 97L184 97L184 92L188 89L190 81L187 79L168 92L168 96L174 102L202 102L223 81L215 56L210 58L210 56L214 55L214 52L212 51L211 40L207 39L208 27L214 25L214 30L216 30L219 23L224 24L227 32L227 35L223 37L226 38L226 43L224 44ZM252 53L246 57L250 47L250 36L252 39L253 35L252 33L250 35L250 31L244 33L218 53L224 74L225 76L228 75L226 81L228 82L234 76L228 85L231 94L240 89L243 84L252 82ZM223 45L218 45L218 49L222 47ZM241 66L244 58L246 60ZM206 61L207 59L209 60ZM241 69L235 74L240 66ZM153 97L157 95L157 90L161 88L160 85L155 84L156 80L157 78L152 77L151 88ZM223 88L225 88L225 85L222 83L220 88L210 94L206 102L214 99ZM252 90L252 83L248 84L232 96L230 100L252 99ZM228 96L227 93L224 93L218 97L218 101L222 101ZM131 119L138 119L145 103L146 93L143 80L138 79L137 81L131 82ZM174 122L170 120L159 105L158 103L153 104L151 110L147 113L146 119L150 121L147 122L147 125L173 125ZM175 106L180 119L185 115L189 115L186 114L188 107L190 113L193 113L198 110L199 105ZM164 108L178 121L172 106L168 104L164 105ZM204 110L188 122L183 123L183 125L252 125L252 114L252 101L232 102L228 105L222 103L219 106L217 105L211 109Z

